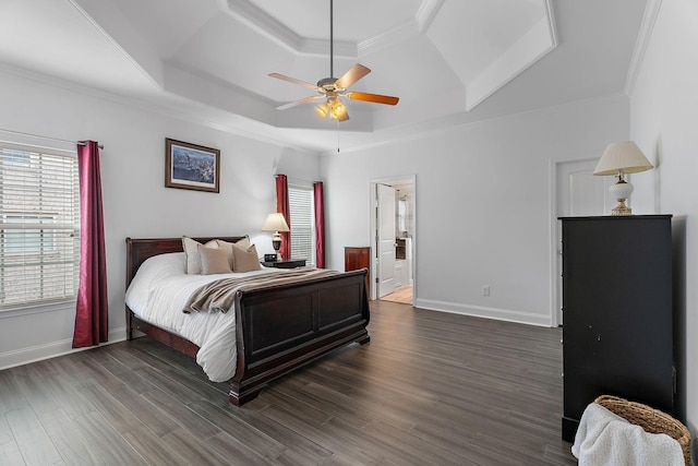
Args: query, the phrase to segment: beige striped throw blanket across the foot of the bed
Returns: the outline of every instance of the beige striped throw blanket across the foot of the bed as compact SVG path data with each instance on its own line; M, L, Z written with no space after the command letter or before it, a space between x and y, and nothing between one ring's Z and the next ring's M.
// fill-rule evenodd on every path
M312 278L337 275L339 272L326 268L292 268L267 272L248 277L221 278L196 289L186 300L182 312L228 312L238 290L253 290L289 283L300 283Z

